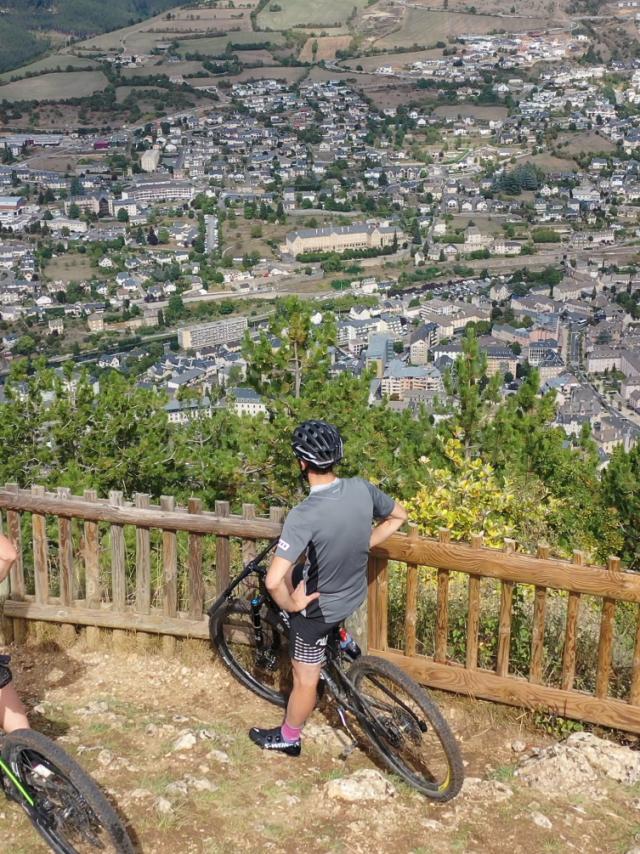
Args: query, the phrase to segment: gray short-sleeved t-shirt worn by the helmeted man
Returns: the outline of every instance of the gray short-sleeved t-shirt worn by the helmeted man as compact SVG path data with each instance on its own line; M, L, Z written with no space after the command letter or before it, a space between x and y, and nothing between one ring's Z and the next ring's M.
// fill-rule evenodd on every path
M276 555L294 564L306 556L306 591L319 590L320 598L305 617L338 623L362 604L371 525L389 516L394 505L377 486L353 477L316 488L291 510Z

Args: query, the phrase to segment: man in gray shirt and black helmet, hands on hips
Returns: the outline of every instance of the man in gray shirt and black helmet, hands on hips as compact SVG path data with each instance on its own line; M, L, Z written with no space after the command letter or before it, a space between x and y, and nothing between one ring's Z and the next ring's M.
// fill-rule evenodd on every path
M290 614L293 689L282 726L254 727L249 737L264 749L299 756L329 634L365 599L369 549L395 533L407 512L368 481L336 476L343 446L333 425L305 421L292 447L309 496L285 520L266 586ZM372 529L374 519L380 521Z

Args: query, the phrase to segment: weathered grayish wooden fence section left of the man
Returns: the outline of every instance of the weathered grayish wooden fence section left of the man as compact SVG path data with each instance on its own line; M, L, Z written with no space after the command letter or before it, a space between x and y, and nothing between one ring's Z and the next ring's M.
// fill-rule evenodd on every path
M0 512L6 515L7 534L19 553L11 570L11 592L3 608L5 637L21 639L27 620L49 621L116 632L160 634L166 636L164 646L169 651L172 637L208 637L205 582L209 580L209 599L228 583L233 539L241 541L239 561L242 556L255 554L256 540L276 537L284 518L280 507L271 508L265 519L258 518L255 507L249 504L244 506L242 516L236 516L229 512L226 501L216 502L212 513L203 510L202 502L196 498L190 499L187 507L180 507L172 496L162 496L160 503L154 505L144 494L137 494L128 502L117 491L105 499L98 498L93 490L79 496L64 488L53 493L41 486L26 490L15 484L0 489ZM30 536L24 517L27 513L31 514ZM52 519L57 520L55 540L50 536ZM76 534L75 541L74 524L82 526L81 537ZM130 527L135 528L132 546L126 539ZM153 531L159 532L157 555L161 562L155 589ZM180 532L187 535L182 567L178 555ZM205 567L208 536L214 537L215 543L209 552L210 566ZM131 547L134 561L127 552ZM32 564L30 589L25 562L28 553ZM53 572L54 565L57 573Z

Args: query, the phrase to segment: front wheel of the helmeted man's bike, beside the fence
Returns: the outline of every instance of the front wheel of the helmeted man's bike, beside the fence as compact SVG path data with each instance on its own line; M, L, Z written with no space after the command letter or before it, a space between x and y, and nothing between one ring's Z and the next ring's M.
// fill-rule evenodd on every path
M274 611L260 608L263 648L256 645L249 602L229 599L209 618L209 636L226 666L242 684L276 706L286 706L291 693L289 635Z

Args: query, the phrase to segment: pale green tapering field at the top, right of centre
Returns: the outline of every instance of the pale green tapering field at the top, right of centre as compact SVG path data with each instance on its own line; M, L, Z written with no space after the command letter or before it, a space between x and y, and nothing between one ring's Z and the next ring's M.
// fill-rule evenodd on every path
M466 15L452 12L431 12L410 8L397 32L389 33L375 42L376 47L429 47L436 42L467 33L482 35L490 32L521 33L548 26L543 18L498 18L491 15Z

